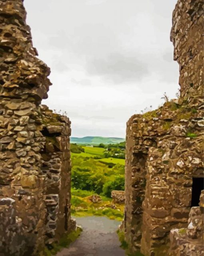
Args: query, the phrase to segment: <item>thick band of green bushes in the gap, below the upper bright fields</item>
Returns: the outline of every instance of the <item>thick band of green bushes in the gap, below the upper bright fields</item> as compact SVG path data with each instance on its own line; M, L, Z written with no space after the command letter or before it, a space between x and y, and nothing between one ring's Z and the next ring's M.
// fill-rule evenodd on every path
M124 190L124 165L114 163L110 166L100 159L72 154L72 187L110 197L110 187L112 190Z

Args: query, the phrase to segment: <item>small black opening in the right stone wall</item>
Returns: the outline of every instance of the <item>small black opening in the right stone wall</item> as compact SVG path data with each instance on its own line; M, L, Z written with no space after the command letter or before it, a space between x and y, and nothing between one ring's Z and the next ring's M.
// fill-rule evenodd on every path
M199 206L200 193L204 189L204 178L193 178L191 207Z

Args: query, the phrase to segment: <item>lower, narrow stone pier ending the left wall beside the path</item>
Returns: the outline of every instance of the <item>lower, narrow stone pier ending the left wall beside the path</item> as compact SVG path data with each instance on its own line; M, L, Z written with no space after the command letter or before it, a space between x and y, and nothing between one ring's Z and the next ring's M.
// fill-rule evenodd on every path
M41 151L42 172L45 175L44 199L47 209L46 242L58 240L64 232L73 228L70 215L71 163L70 121L67 117L52 113L40 106L46 138Z

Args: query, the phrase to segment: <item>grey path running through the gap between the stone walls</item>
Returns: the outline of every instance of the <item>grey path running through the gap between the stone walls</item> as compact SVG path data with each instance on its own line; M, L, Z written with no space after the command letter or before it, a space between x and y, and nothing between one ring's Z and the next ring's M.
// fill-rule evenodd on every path
M120 222L96 216L76 218L76 222L83 232L57 256L125 256L116 234Z

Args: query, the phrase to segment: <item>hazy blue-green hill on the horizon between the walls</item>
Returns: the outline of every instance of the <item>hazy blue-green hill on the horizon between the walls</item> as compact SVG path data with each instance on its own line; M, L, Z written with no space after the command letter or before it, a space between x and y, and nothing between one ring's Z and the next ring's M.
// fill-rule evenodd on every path
M77 138L77 137L71 137L70 142L71 143L77 143L77 144L92 144L97 145L100 143L103 144L116 144L125 141L123 138L117 138L117 137L92 137L87 136L83 138Z

